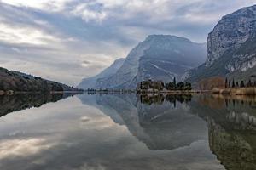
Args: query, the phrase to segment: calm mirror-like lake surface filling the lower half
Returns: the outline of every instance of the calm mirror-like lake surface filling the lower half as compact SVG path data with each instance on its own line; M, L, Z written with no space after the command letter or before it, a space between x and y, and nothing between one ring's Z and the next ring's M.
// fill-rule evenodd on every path
M1 170L256 169L255 98L67 97L0 97Z

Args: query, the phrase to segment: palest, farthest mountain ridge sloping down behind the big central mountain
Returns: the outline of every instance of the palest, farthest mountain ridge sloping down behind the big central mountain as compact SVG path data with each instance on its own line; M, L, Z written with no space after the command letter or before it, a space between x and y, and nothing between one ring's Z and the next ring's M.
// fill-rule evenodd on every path
M112 65L110 65L107 69L96 75L95 77L89 77L89 78L84 78L82 82L79 83L78 88L95 88L96 84L101 84L101 82L112 76L113 74L116 73L116 71L119 70L121 65L123 65L125 59L116 59Z

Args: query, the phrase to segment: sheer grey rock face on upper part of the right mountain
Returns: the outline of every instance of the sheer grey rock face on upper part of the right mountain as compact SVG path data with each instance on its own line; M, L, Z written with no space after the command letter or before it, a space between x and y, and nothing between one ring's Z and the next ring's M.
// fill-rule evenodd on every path
M256 6L241 8L233 14L225 15L208 35L206 65L212 65L228 50L239 48L252 38L256 31L255 19Z

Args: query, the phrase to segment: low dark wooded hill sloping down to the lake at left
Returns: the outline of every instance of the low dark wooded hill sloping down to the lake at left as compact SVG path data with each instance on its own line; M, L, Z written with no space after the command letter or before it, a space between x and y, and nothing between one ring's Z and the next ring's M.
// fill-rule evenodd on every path
M0 67L0 91L9 90L15 92L62 92L79 91L80 89Z

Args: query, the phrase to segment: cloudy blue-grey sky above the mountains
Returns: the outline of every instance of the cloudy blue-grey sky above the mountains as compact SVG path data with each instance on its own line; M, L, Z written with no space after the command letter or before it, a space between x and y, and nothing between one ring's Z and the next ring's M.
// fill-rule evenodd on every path
M256 0L0 0L0 66L76 86L150 34L207 42Z

